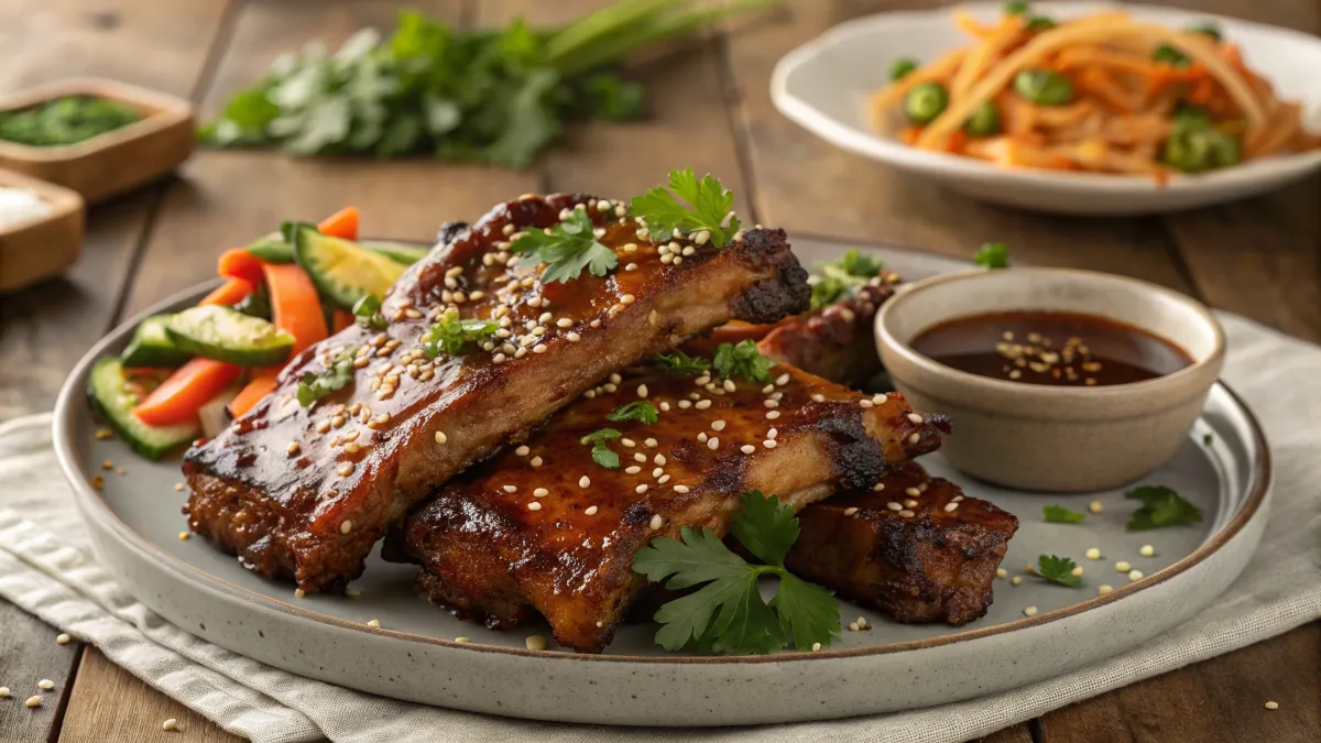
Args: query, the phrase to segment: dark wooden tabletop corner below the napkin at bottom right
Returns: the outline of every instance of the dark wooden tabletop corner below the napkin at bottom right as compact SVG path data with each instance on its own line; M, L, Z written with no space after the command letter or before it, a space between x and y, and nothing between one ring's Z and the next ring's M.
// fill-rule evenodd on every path
M1277 743L1321 730L1321 623L1038 721L1040 743ZM1277 710L1267 710L1275 701Z

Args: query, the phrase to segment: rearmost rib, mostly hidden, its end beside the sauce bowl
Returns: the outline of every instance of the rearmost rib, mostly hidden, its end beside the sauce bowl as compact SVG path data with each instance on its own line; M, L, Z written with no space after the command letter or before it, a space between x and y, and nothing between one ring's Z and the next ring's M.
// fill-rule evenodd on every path
M737 344L752 338L762 356L778 364L789 364L851 387L864 387L881 372L881 358L872 336L876 311L894 296L898 280L894 272L881 271L835 304L774 324L727 323L709 336L688 341L684 350L709 354L723 342Z

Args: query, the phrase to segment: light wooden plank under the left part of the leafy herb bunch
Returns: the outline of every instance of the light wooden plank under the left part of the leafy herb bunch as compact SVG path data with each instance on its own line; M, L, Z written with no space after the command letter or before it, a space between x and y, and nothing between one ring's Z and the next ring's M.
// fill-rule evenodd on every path
M433 0L419 9L456 21L460 4ZM336 46L357 29L388 32L391 7L369 3L246 5L202 110L250 85L277 54L321 40ZM316 221L346 204L362 209L363 234L429 239L441 222L472 221L491 205L536 190L536 175L431 160L293 159L277 152L206 151L172 184L144 251L125 313L137 312L215 275L215 258L279 227Z

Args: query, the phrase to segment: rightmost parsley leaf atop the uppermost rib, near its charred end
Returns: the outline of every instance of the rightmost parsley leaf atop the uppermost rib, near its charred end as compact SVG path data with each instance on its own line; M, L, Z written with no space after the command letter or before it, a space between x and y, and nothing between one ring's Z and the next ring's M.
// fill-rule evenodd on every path
M668 237L674 230L683 234L707 231L711 245L724 247L741 227L738 218L729 210L734 194L725 190L720 180L707 175L700 181L692 168L670 171L670 190L657 186L642 196L634 196L629 213L642 219L658 239ZM674 193L670 193L670 192ZM678 194L688 204L675 198Z

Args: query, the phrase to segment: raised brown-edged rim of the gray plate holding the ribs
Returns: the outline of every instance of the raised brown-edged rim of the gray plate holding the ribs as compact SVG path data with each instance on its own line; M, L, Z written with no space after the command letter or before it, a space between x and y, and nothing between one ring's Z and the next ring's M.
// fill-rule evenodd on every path
M822 235L812 235L803 233L803 237L811 237L814 239L826 239L830 242L839 242L838 238L823 238ZM412 242L412 241L399 241L399 242ZM425 241L417 241L423 243ZM861 241L848 241L851 245L860 245L868 249L884 249L884 250L900 250L905 253L925 253L908 247L867 243ZM840 243L843 247L844 243ZM1115 588L1110 594L1102 596L1091 596L1086 600L1070 604L1046 613L1040 613L1032 617L1021 617L1013 621L1007 621L1001 624L995 624L991 627L980 627L976 629L954 632L950 635L942 635L938 637L927 637L922 640L909 640L904 643L889 643L885 645L868 645L863 648L852 649L823 649L818 652L798 652L798 653L774 653L768 656L630 656L630 654L592 654L580 653L572 650L528 650L523 648L511 648L502 645L486 645L480 643L454 643L453 640L444 640L440 637L428 637L425 635L416 635L412 632L400 632L390 628L370 627L362 623L350 621L337 616L330 616L322 612L308 609L304 607L293 606L288 602L281 602L279 599L258 594L248 588L243 588L229 580L207 572L201 567L197 567L184 559L176 558L162 550L159 545L137 533L132 526L124 522L110 504L99 496L99 493L89 483L90 475L86 475L78 465L78 456L75 453L74 446L74 419L79 414L90 415L90 410L86 405L86 378L90 373L91 365L95 360L106 353L106 349L115 345L119 341L127 340L128 333L140 323L143 319L156 315L160 312L169 311L176 305L185 301L196 300L214 287L219 286L221 279L209 279L199 284L194 284L173 295L157 301L141 312L137 312L132 317L120 323L106 333L99 341L96 341L87 353L79 358L78 364L74 365L73 370L65 378L65 382L59 390L59 397L55 401L54 415L52 418L52 440L55 450L55 457L59 463L61 472L65 480L70 484L74 492L75 502L83 514L83 518L96 518L102 526L104 526L120 543L151 557L162 567L168 568L169 572L178 576L181 580L189 580L190 583L199 586L213 594L223 594L226 600L246 602L248 604L255 604L266 609L275 609L281 613L289 615L295 620L301 621L316 621L321 624L328 624L339 629L350 629L357 632L365 632L367 635L387 636L395 640L406 640L411 643L421 643L427 645L440 645L444 648L474 650L483 653L499 653L511 654L524 658L534 658L546 662L569 662L569 661L593 661L593 662L620 662L620 664L660 664L660 665L729 665L729 664L774 664L774 662L801 662L808 660L827 660L827 658L857 658L869 656L884 656L892 653L902 653L909 650L922 650L929 648L954 645L958 643L970 643L974 640L982 640L985 637L993 637L1007 632L1017 632L1020 629L1029 629L1034 627L1042 627L1053 624L1055 621L1069 619L1104 606L1114 602L1119 602L1124 598L1136 595L1148 588L1153 588L1172 578L1182 575L1189 570L1194 568L1203 561L1206 561L1213 554L1218 553L1225 545L1232 541L1244 526L1251 522L1260 510L1262 504L1266 501L1271 492L1271 487L1275 480L1273 461L1271 457L1271 450L1266 439L1266 434L1262 428L1260 422L1252 409L1239 397L1238 393L1232 390L1229 385L1222 381L1217 381L1214 386L1221 387L1229 394L1232 403L1243 414L1248 428L1251 430L1252 446L1258 451L1256 460L1252 463L1251 479L1247 489L1247 496L1244 498L1243 506L1234 516L1234 518L1226 524L1221 530L1210 535L1205 542L1202 542L1193 553L1185 555L1180 561L1169 565L1141 580L1135 583L1128 583L1119 588ZM82 406L82 407L79 407ZM437 611L441 611L437 608Z

